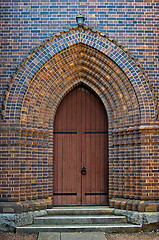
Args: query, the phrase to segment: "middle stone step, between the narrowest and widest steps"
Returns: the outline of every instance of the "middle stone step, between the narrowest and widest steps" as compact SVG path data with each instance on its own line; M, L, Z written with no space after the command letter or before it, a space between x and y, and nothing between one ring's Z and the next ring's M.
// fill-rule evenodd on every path
M115 215L60 215L34 218L35 224L117 224L126 223L125 216Z

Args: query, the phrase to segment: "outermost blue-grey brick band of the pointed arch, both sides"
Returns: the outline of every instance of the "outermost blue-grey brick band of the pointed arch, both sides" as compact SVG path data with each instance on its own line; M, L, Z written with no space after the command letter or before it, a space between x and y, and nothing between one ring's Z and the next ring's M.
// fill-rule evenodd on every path
M8 112L10 114L15 111L15 114L12 114L14 118L18 111L20 111L23 95L30 80L50 56L54 56L62 49L77 44L79 44L79 46L86 45L97 51L103 52L105 56L108 56L114 61L126 74L134 88L143 121L145 118L146 121L148 118L153 118L155 115L155 106L152 92L138 62L134 61L131 54L113 40L99 32L93 32L85 28L70 29L66 33L64 32L58 36L54 36L52 39L47 40L43 45L39 46L37 50L26 58L24 63L18 68L9 86L9 91L6 92L6 115ZM42 57L44 53L45 57ZM65 53L63 54L65 55ZM8 117L12 118L11 115L8 115Z

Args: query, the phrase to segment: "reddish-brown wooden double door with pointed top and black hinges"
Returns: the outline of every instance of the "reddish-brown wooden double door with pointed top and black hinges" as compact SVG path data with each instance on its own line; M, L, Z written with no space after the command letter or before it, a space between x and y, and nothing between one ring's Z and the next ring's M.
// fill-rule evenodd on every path
M54 205L108 204L108 121L98 97L79 86L54 124Z

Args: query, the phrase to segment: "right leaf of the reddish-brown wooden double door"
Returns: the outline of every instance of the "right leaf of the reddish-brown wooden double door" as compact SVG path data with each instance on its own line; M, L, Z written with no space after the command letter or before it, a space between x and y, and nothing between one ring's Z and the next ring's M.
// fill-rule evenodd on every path
M83 178L83 204L104 204L107 202L107 182L105 171L107 159L105 143L107 144L107 117L104 106L91 92L86 92L85 101L86 128L85 138L82 138L82 161L86 156L87 176ZM88 115L87 115L88 114ZM85 153L86 151L86 153Z

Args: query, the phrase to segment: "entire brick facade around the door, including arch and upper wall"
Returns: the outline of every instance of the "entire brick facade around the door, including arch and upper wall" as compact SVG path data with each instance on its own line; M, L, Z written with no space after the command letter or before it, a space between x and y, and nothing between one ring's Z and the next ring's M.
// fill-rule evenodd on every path
M110 205L158 210L157 1L4 1L2 6L1 211L51 206L54 115L77 79L107 109ZM76 29L38 47L75 27L77 9L87 25L110 37Z

